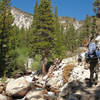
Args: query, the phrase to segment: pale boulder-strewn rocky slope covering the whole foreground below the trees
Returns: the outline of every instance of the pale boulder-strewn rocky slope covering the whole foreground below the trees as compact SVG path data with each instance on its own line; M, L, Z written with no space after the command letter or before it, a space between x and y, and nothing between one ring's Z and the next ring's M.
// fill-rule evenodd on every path
M99 45L100 36L96 40ZM100 71L98 83L88 87L90 72L85 68L84 54L80 64L77 55L61 62L56 59L44 77L32 73L0 81L0 100L100 100Z

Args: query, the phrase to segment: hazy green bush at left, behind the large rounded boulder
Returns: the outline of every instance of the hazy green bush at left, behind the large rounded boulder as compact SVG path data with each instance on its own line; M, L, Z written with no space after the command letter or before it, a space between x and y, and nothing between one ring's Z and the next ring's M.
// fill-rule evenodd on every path
M16 76L16 74L23 74L25 71L25 63L28 59L28 49L25 47L17 48L10 52L8 65L5 68L4 74L10 77Z

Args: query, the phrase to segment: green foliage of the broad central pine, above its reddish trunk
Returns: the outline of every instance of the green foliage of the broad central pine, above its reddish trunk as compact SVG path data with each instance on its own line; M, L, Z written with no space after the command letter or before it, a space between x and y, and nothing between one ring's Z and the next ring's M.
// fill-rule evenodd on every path
M39 24L38 24L38 50L42 53L46 48L50 49L54 39L54 19L50 0L41 0L38 8Z

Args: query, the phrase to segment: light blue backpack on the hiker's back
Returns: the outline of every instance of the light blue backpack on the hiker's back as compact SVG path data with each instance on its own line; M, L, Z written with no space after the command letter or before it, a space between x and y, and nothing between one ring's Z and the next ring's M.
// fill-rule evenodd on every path
M97 48L97 46L96 46L96 43L95 42L93 42L93 43L90 43L89 44L89 57L90 58L93 58L94 56L96 56L95 54L96 54L96 48Z

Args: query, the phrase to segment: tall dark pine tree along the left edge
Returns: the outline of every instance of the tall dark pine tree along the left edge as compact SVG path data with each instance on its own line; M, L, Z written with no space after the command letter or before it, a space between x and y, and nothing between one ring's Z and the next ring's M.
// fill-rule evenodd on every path
M0 72L4 72L9 62L9 51L12 49L13 17L10 11L10 0L1 0L0 4Z

